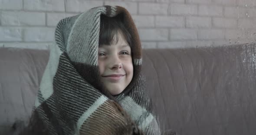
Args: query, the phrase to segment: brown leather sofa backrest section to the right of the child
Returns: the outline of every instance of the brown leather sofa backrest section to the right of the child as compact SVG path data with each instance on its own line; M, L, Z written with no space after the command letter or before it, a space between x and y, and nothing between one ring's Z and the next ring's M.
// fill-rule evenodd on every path
M147 78L162 131L254 135L256 45L148 49Z

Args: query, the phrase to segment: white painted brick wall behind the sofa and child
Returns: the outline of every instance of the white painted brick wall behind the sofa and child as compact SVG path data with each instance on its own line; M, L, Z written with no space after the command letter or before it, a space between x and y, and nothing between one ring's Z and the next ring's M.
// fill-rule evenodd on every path
M256 42L256 0L0 0L0 47L47 49L60 19L124 6L143 48Z

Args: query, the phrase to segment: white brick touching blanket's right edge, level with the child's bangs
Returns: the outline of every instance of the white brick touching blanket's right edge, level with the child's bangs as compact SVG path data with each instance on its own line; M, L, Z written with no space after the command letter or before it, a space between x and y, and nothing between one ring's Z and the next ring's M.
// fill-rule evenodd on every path
M141 41L167 41L168 29L139 29Z

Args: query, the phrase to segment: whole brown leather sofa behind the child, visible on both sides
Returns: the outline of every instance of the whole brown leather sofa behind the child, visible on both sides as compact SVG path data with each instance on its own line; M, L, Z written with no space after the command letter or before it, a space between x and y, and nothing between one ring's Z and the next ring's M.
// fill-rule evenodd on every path
M0 134L29 118L48 57L0 48ZM163 134L256 135L255 57L256 44L144 49L142 72Z

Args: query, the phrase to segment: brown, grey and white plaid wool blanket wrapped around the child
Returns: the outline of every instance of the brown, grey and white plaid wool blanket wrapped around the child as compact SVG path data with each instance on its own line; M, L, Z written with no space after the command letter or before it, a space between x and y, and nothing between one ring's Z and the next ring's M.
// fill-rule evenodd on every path
M112 96L105 90L98 69L99 27L101 15L118 14L132 35L134 75L122 93ZM55 39L30 130L43 135L160 135L140 74L140 39L125 8L99 6L62 19Z

